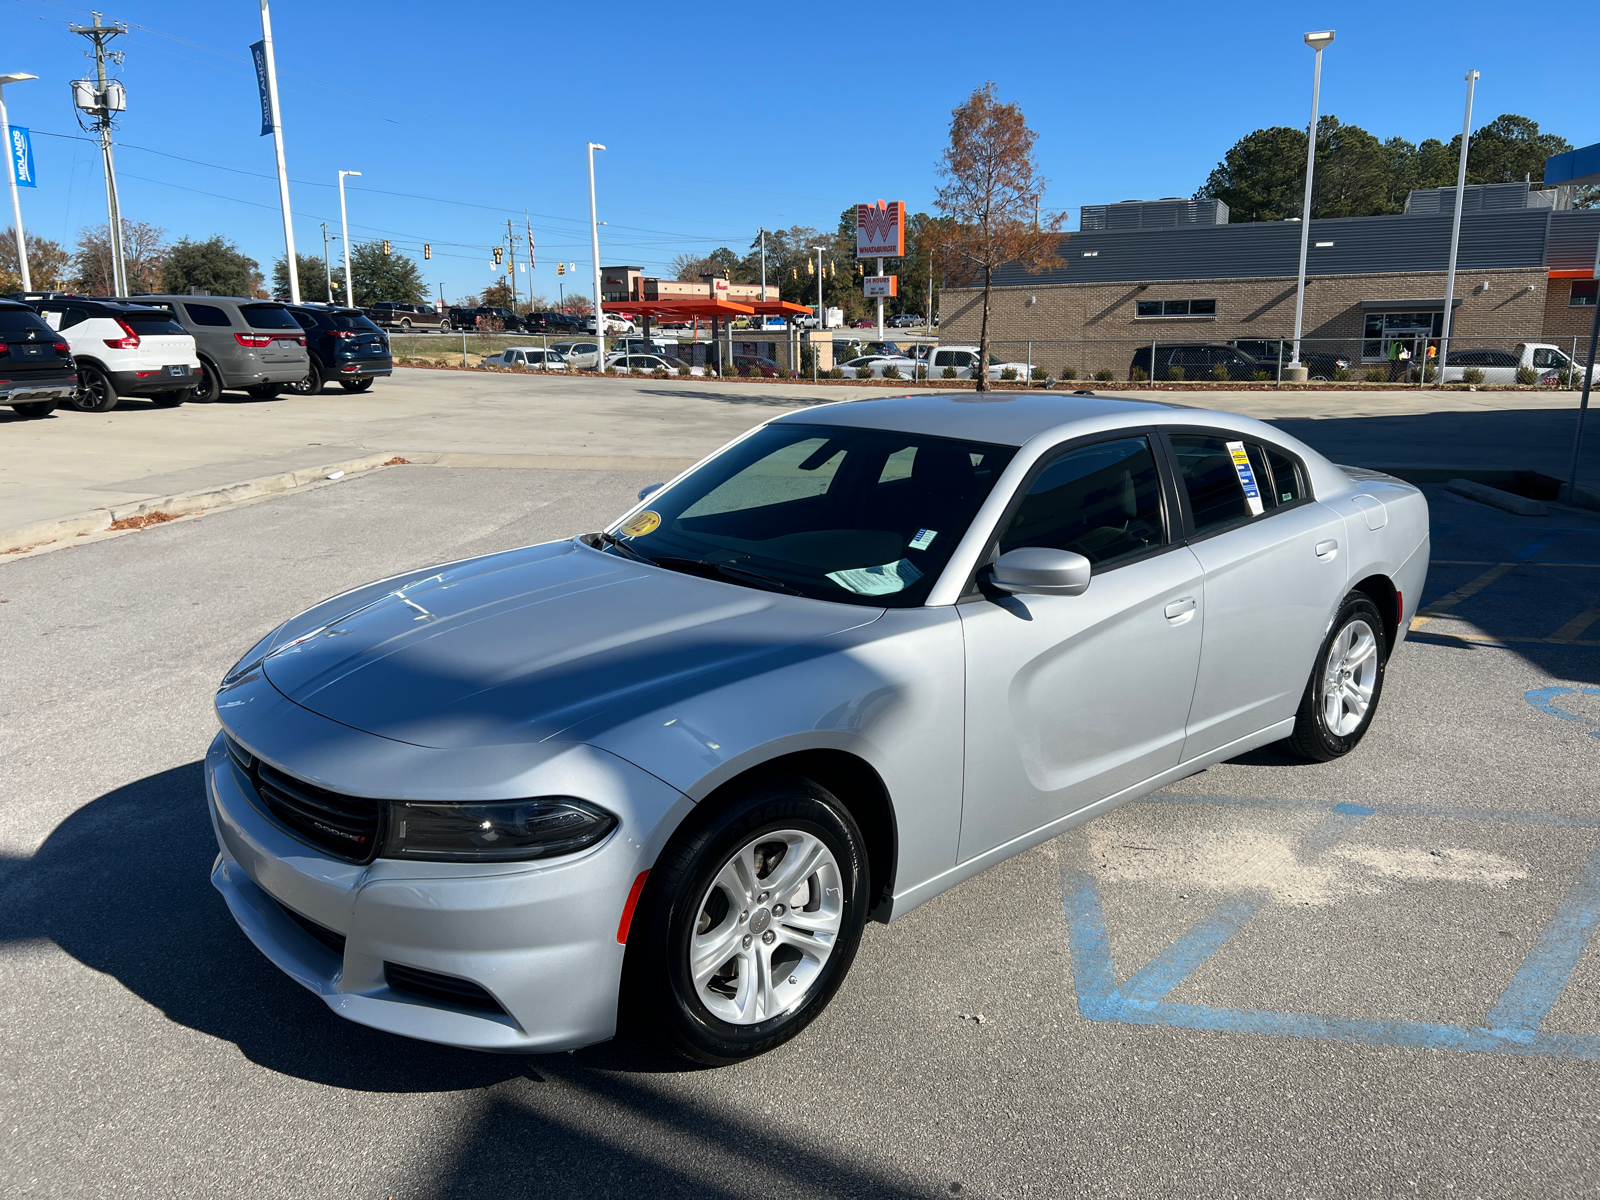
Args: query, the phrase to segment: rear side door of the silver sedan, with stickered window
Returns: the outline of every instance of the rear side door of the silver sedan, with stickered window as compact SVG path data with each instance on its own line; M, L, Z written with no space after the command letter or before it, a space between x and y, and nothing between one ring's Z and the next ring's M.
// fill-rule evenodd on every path
M1205 635L1184 758L1290 720L1347 555L1339 514L1282 448L1216 429L1166 432L1189 549L1205 570Z

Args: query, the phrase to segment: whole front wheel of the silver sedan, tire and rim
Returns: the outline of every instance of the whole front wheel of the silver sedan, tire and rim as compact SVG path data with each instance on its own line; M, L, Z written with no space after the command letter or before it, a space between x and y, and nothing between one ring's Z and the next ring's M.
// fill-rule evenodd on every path
M627 939L627 1026L710 1066L787 1042L850 971L867 894L861 830L830 792L752 787L651 870Z

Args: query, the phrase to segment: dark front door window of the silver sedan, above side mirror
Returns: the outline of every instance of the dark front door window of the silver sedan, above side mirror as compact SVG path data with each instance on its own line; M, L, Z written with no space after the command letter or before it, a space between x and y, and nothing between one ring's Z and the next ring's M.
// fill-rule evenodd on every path
M1107 566L1165 542L1150 440L1125 437L1051 459L1029 485L1000 552L1048 546Z

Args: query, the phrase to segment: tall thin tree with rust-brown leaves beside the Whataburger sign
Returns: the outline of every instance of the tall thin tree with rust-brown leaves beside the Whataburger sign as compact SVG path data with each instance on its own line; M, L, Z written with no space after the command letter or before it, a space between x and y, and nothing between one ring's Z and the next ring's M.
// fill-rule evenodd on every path
M939 160L939 258L950 275L984 283L978 339L978 390L989 389L989 301L994 272L1018 264L1038 274L1061 264L1056 248L1066 216L1040 213L1045 179L1034 162L1038 134L1016 104L1000 104L995 85L976 88L950 114L950 146Z

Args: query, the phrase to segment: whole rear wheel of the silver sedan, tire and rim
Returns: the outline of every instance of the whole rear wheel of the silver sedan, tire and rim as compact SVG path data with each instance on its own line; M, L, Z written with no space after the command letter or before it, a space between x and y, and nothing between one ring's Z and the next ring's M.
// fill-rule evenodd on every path
M1363 594L1352 592L1317 653L1310 682L1294 714L1288 746L1314 763L1355 749L1378 712L1389 646L1384 619Z

